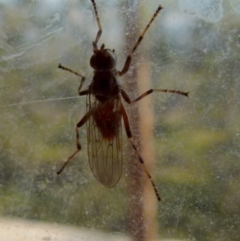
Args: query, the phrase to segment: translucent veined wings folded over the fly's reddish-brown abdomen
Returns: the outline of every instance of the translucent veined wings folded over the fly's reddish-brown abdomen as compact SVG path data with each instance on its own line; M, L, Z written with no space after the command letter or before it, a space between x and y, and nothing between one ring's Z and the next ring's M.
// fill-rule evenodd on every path
M122 125L120 100L99 102L87 97L91 116L87 122L88 158L96 179L106 187L115 186L122 174Z

